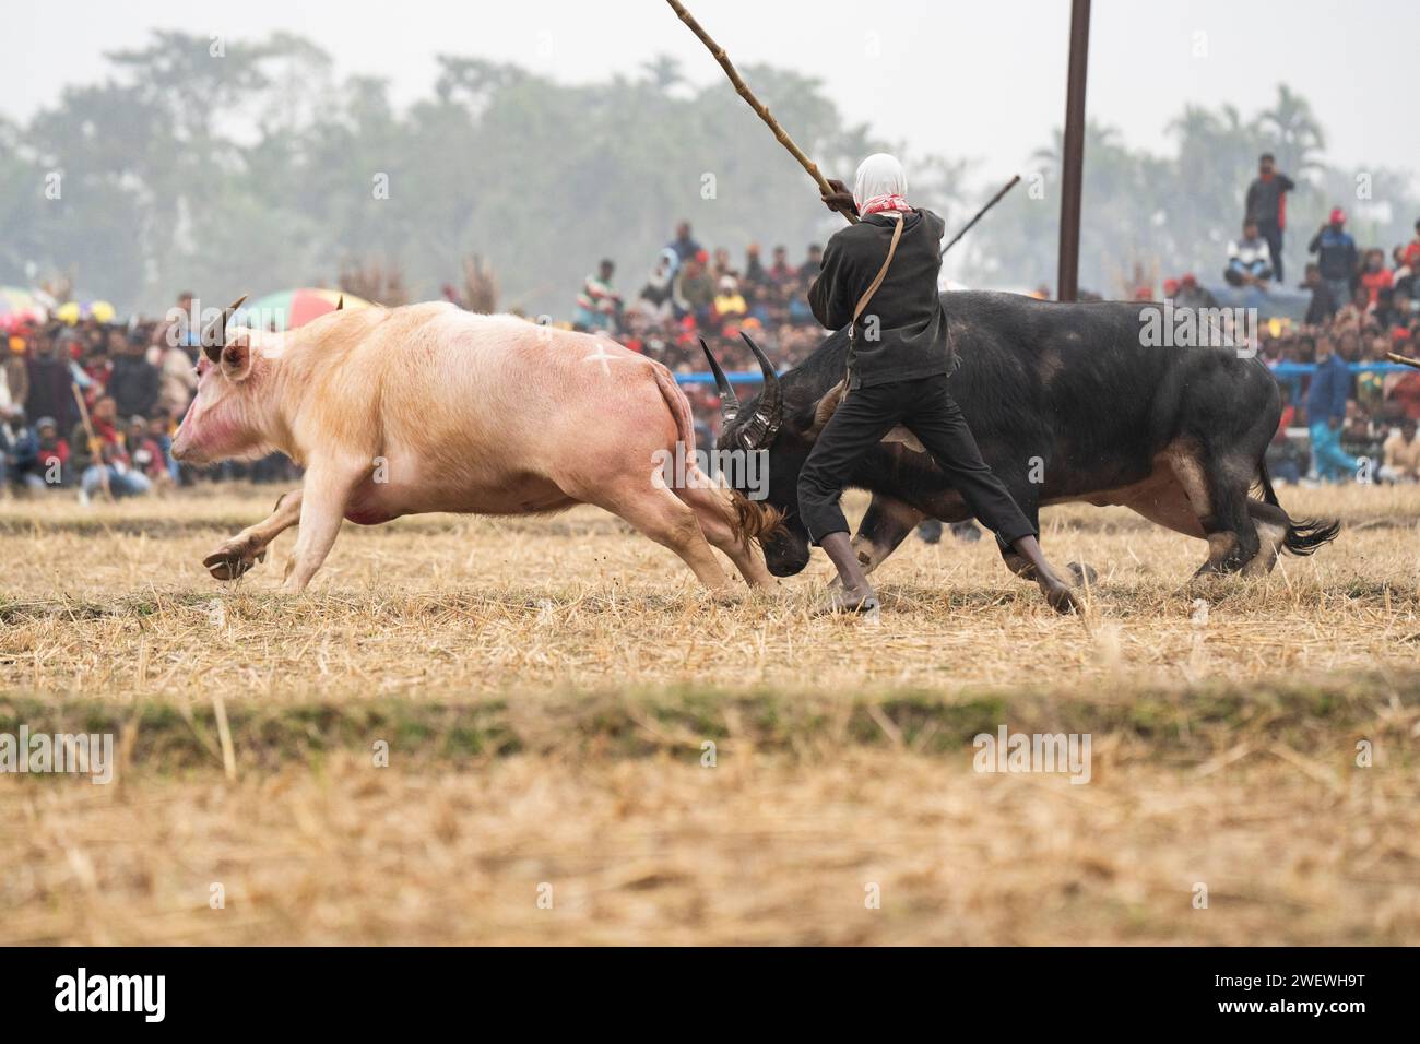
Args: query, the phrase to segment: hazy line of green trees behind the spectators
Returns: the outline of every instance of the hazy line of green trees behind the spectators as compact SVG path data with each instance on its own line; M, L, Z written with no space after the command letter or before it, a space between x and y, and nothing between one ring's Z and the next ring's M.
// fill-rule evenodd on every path
M1010 173L883 141L812 77L744 74L825 170L848 179L868 152L902 153L913 197L949 229ZM1329 166L1306 101L1285 87L1252 118L1189 107L1169 126L1176 155L1089 128L1083 286L1118 295L1140 271L1207 278L1264 149L1305 179L1291 213L1308 234L1340 203L1358 239L1389 246L1420 213L1407 173ZM1058 155L1056 135L1030 158L1024 187L954 251L957 278L1054 284ZM635 293L680 219L707 246L784 243L791 259L839 220L727 84L693 87L670 58L568 85L442 55L432 92L396 107L388 82L338 80L298 36L155 31L28 122L0 121L0 283L68 276L121 311L160 311L182 288L226 300L331 286L369 264L432 298L479 257L501 307L565 317L601 257Z

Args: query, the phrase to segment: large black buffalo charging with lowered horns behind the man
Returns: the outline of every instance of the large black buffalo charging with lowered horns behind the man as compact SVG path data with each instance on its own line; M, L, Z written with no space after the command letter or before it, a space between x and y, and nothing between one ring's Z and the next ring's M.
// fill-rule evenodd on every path
M1267 572L1281 550L1311 554L1336 537L1339 523L1294 521L1278 504L1264 453L1281 396L1260 359L1227 344L1154 347L1145 331L1166 318L1160 305L974 291L943 303L961 359L951 393L983 457L1032 523L1045 504L1122 504L1206 540L1200 574ZM782 376L746 341L765 385L743 408L710 358L726 420L719 449L768 450L767 501L784 513L784 526L764 538L764 553L770 571L788 577L809 560L798 476L818 430L816 406L843 378L848 335L838 331ZM932 459L900 442L868 453L848 484L872 493L853 537L868 570L923 518L970 517ZM1261 499L1250 496L1254 484ZM1031 578L1024 560L1001 554Z

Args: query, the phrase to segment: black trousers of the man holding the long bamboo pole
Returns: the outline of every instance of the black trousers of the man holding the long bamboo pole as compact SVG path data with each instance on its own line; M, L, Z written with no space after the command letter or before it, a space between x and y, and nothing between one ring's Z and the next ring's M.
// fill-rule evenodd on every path
M799 517L815 544L831 533L848 533L838 506L848 476L868 450L902 425L922 440L951 487L977 518L1007 547L1037 535L1005 486L977 449L971 429L947 391L946 374L895 381L848 393L824 425L799 472Z

